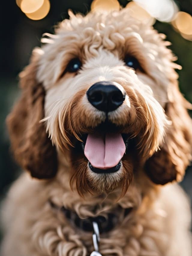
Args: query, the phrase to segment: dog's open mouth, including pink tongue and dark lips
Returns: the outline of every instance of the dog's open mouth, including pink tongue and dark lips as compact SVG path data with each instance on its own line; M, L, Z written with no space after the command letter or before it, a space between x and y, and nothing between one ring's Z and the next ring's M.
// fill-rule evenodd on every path
M122 166L128 147L128 134L109 123L102 123L93 133L82 136L81 150L94 173L115 173Z

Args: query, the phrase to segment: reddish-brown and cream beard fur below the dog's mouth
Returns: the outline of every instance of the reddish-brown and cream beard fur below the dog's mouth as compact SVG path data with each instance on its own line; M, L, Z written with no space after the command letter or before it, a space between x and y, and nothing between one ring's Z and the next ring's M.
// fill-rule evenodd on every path
M101 195L103 192L111 193L119 188L120 197L124 196L133 178L133 164L131 161L122 161L121 167L114 173L95 173L84 159L77 159L72 164L71 188L76 185L77 192L83 196L87 192ZM103 171L104 172L104 171Z

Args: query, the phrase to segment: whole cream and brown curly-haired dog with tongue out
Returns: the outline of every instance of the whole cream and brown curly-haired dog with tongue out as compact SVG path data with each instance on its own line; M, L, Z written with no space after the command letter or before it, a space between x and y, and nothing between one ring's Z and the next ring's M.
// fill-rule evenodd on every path
M128 9L74 15L19 75L7 117L27 170L3 208L3 256L190 256L191 108L181 67Z

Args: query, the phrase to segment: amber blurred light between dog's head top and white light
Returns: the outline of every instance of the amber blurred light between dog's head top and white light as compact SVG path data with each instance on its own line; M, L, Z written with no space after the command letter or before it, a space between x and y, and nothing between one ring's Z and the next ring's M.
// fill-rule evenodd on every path
M137 20L142 21L145 24L153 25L155 23L155 19L141 6L137 5L135 2L129 2L126 5L126 8L131 10L131 16L136 18Z

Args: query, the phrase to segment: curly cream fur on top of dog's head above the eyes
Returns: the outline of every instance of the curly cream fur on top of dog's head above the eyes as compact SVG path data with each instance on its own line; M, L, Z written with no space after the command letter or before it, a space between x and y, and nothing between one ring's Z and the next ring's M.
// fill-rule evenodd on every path
M169 42L162 40L165 36L132 18L128 9L89 13L85 17L80 14L70 16L70 20L64 20L55 29L56 35L46 41L49 44L42 47L37 77L46 89L57 83L70 59L78 56L86 64L89 59L102 57L102 50L110 51L120 60L126 53L138 58L148 76L155 80L154 90L162 86L166 88L169 79L177 78L173 68L179 68L179 65L172 62L175 57L166 48ZM102 65L104 57L100 61ZM98 62L95 63L98 66ZM111 59L106 65L109 63ZM91 65L93 68L94 61ZM146 83L149 77L145 77Z

